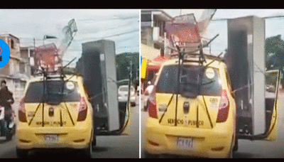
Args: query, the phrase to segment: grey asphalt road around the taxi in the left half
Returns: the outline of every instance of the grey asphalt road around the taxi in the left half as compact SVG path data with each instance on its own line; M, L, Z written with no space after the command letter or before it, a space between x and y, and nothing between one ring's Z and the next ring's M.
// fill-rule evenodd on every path
M0 158L17 158L16 141L0 137ZM30 158L78 158L72 151L30 151ZM92 158L139 158L139 102L131 107L129 125L120 136L97 136Z

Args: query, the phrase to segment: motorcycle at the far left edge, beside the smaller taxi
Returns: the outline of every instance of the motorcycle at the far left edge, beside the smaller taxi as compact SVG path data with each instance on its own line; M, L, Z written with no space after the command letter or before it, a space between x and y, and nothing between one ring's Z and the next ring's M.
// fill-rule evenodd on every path
M15 134L16 124L15 124L15 113L12 110L11 119L8 121L5 119L5 108L0 106L0 136L6 136L6 140L10 141L13 134Z

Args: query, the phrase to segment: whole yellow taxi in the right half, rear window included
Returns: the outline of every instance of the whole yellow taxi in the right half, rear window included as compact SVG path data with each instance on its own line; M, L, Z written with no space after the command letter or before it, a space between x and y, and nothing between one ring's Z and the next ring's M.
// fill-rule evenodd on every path
M163 63L148 97L145 155L227 158L236 144L236 104L225 63L204 55ZM179 75L180 72L180 75ZM180 78L178 78L180 76ZM178 95L177 95L178 94Z

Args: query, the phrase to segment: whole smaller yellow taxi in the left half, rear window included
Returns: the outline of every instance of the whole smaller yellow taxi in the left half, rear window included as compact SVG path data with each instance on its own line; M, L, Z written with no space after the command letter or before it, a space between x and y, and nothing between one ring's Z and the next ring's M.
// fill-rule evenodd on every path
M28 81L18 109L16 153L28 156L38 148L75 148L84 157L92 153L93 112L82 77L34 77Z

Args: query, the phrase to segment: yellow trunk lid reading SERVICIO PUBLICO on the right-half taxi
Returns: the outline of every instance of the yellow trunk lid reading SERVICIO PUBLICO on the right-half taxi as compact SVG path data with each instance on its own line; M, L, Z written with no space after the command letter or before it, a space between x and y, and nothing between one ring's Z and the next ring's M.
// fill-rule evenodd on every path
M159 121L165 112L171 96L169 94L156 94ZM220 98L204 96L203 100L202 96L190 99L178 95L178 107L176 110L176 95L174 95L160 124L165 126L211 129L216 125ZM204 103L206 103L206 106ZM176 112L177 117L175 117ZM176 124L175 119L177 120Z

